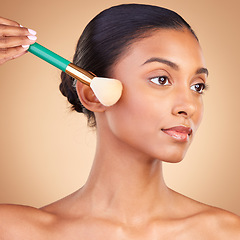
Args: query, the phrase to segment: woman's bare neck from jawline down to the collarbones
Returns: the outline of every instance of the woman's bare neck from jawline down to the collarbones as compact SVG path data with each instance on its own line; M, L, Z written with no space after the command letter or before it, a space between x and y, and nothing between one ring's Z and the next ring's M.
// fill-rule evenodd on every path
M88 196L92 211L98 209L109 218L117 216L126 223L139 221L164 211L159 206L169 202L169 192L161 161L106 135L98 136L93 167L81 189L81 195Z

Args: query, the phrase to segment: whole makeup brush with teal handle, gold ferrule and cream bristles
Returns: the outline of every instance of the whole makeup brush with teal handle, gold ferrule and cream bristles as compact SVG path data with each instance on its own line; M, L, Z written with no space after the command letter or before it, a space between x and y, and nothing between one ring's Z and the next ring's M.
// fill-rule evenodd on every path
M36 42L30 45L28 51L90 86L95 96L105 106L114 105L122 95L122 83L119 80L97 77Z

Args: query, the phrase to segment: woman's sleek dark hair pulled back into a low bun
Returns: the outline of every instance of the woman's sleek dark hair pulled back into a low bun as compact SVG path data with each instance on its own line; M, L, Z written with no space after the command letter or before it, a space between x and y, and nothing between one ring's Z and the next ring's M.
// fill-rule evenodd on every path
M159 28L186 28L197 39L189 24L171 10L144 4L122 4L102 11L88 23L78 41L73 63L98 77L111 77L111 67L127 47L147 36L150 30ZM60 90L72 104L72 109L86 114L89 126L95 126L94 113L78 99L74 79L64 72L61 78Z

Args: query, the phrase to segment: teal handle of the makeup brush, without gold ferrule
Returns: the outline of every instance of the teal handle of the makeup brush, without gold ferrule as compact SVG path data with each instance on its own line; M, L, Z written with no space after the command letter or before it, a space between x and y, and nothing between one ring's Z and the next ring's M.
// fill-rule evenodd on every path
M68 60L66 60L65 58L57 55L56 53L50 51L49 49L43 47L42 45L40 45L36 42L29 46L28 51L33 53L34 55L40 57L44 61L52 64L53 66L61 69L64 72L65 72L68 64L71 63Z

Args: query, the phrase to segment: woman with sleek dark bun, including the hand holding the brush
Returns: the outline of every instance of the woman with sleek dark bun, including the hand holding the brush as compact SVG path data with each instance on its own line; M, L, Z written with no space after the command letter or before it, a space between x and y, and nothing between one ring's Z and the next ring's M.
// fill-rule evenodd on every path
M1 23L3 63L36 37ZM156 6L112 7L85 28L73 62L124 87L106 107L89 87L61 75L63 95L96 126L89 178L41 209L2 205L0 239L240 239L238 216L174 192L162 175L162 162L183 159L203 114L208 70L191 27Z

